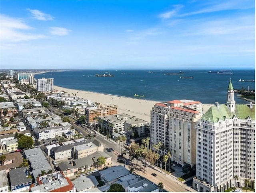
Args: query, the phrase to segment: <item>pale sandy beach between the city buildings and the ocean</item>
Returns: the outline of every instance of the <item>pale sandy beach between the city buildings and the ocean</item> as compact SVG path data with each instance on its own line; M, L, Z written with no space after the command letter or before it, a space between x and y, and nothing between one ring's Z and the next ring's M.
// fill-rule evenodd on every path
M154 107L157 102L164 101L150 101L144 99L134 99L123 96L114 96L109 94L100 94L96 92L88 92L82 90L74 90L68 88L62 88L59 86L54 86L55 90L65 91L70 95L76 94L76 96L90 100L92 102L109 104L112 103L118 106L118 113L126 113L131 116L136 116L136 118L143 119L144 121L150 122L150 110ZM204 112L206 112L212 105L203 104Z

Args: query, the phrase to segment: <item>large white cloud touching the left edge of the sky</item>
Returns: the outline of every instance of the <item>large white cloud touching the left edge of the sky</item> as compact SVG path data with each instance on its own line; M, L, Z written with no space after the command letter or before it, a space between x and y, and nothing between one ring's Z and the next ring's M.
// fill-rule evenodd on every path
M0 20L1 42L20 42L47 38L47 36L43 34L33 34L28 32L28 30L32 30L33 28L25 24L22 19L0 15Z

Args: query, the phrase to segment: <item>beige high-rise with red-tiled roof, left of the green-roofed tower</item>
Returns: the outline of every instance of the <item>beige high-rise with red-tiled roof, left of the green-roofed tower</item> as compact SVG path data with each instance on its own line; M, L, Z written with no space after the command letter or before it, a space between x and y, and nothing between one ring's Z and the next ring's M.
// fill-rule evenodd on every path
M196 164L195 125L202 116L202 103L173 100L156 103L151 110L150 147L160 142L160 155L170 151L172 161L182 166Z

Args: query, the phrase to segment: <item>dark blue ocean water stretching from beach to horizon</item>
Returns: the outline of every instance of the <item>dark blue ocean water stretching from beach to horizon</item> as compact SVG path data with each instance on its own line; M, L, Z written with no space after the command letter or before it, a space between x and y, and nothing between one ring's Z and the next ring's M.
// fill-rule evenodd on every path
M97 77L95 74L114 76ZM155 73L148 73L152 71ZM255 70L229 70L233 74L208 73L219 70L181 70L183 75L194 78L180 78L180 70L71 70L37 74L35 78L54 78L54 85L103 94L132 97L154 101L174 99L191 99L202 103L225 103L230 78L234 89L255 89L255 82L238 82L238 80L255 80ZM134 97L134 94L144 97ZM91 99L93 100L93 99ZM247 103L235 98L236 103Z

